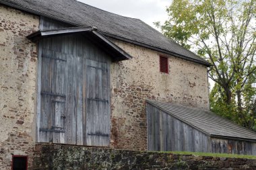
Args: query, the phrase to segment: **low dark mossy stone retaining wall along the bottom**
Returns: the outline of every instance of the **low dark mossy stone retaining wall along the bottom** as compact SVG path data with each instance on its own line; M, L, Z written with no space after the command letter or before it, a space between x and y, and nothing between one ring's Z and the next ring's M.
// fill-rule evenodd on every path
M34 170L61 169L256 169L256 160L38 144Z

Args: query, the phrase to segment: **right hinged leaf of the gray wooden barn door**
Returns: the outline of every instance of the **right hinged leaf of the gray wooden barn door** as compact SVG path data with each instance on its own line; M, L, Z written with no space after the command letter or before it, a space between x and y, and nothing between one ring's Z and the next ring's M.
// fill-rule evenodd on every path
M86 60L86 63L86 145L108 146L110 136L108 65L94 60Z

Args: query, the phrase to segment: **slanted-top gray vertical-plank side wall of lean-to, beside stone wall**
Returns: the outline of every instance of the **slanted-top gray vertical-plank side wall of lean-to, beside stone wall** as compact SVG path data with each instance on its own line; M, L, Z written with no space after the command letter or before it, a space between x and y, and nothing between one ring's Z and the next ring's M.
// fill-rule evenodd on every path
M210 152L210 138L147 103L148 150Z

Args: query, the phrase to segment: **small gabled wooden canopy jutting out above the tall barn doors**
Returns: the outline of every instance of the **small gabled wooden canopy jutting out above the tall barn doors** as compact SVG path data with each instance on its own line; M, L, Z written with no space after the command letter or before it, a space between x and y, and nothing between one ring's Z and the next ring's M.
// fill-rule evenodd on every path
M84 34L86 38L93 40L97 45L102 47L102 50L105 50L113 60L127 60L132 57L127 54L124 50L119 48L119 46L115 45L113 42L110 42L108 38L97 32L97 29L94 27L75 27L75 28L65 28L58 30L39 30L38 32L34 32L27 36L28 39L36 42L42 38L47 38L51 36L63 36L68 34ZM107 50L106 50L107 49Z

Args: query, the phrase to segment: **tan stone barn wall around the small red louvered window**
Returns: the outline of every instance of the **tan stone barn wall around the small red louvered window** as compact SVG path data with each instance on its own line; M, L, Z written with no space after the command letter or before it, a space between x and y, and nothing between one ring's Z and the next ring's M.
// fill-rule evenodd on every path
M206 67L168 56L169 73L160 73L159 52L113 41L133 56L111 65L113 148L146 150L146 99L209 110Z

